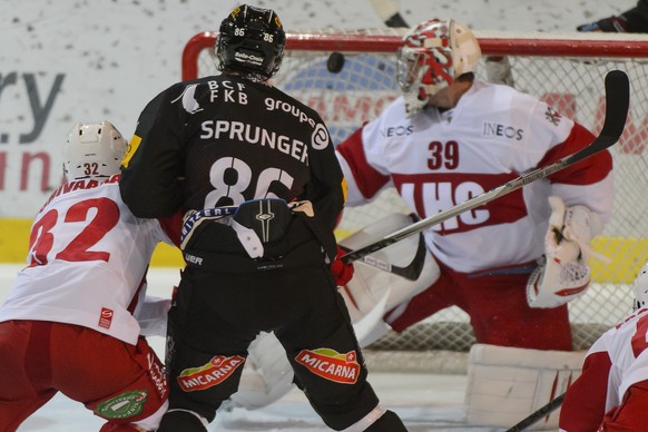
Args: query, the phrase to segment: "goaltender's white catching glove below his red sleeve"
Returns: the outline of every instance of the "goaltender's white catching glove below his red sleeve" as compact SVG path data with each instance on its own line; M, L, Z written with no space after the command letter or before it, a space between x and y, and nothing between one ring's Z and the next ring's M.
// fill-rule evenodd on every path
M588 261L593 256L592 237L602 230L600 216L585 206L566 208L560 197L549 197L551 216L544 236L544 259L527 283L531 307L558 307L588 287Z

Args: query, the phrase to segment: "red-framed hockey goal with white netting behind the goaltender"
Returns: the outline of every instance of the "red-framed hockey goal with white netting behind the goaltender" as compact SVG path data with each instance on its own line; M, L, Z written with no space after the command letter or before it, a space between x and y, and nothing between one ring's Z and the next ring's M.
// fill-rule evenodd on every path
M316 109L337 144L399 96L394 53L402 33L397 29L288 33L275 85ZM547 101L595 135L602 127L605 114L603 77L613 69L629 76L628 122L621 139L611 148L616 181L613 214L603 234L595 239L595 249L611 263L592 261L591 287L585 296L569 304L575 347L586 350L631 311L630 284L648 259L648 240L644 237L648 235L648 199L644 195L648 190L645 151L648 37L474 33L484 59L505 56L516 88ZM216 37L215 32L204 32L188 41L183 52L183 79L217 73L213 50ZM489 80L484 59L477 75ZM410 209L393 188L387 188L370 205L345 209L336 235L343 238L394 212L410 213ZM465 353L473 343L468 315L452 307L402 334L389 333L369 351L375 351L385 363L403 370L418 369L421 364L425 367L448 364L432 357L440 352ZM389 354L381 354L383 351ZM461 370L461 360L456 363Z

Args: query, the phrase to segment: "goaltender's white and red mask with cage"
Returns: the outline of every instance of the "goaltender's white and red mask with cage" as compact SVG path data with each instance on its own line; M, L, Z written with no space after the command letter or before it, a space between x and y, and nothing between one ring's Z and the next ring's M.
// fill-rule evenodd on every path
M396 52L396 77L408 115L463 73L474 72L481 49L473 32L453 20L424 21L403 37Z

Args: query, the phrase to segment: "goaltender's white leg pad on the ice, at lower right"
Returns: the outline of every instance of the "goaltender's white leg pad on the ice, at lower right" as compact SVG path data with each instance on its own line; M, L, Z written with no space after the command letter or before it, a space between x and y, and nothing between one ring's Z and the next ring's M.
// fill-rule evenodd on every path
M475 344L468 359L464 409L470 424L510 428L567 391L586 352ZM558 430L560 410L530 430Z

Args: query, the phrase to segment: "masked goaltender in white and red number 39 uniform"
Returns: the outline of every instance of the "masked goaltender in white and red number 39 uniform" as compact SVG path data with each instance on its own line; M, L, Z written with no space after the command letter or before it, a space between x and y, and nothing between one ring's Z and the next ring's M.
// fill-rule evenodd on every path
M394 186L419 217L430 217L595 139L536 97L478 80L479 43L452 20L422 22L396 56L402 97L336 147L347 206ZM426 229L429 251L416 281L355 262L343 294L355 325L362 323L361 344L460 307L478 342L469 356L467 419L518 423L579 374L585 353L572 351L567 303L586 292L590 240L609 218L612 198L606 150ZM391 217L341 244L365 246L372 233L391 234L409 223ZM396 243L381 251L381 259L402 261L408 247L414 256L416 244ZM367 315L376 313L384 320L367 330ZM557 424L554 412L542 426Z

